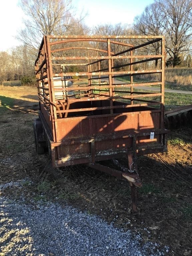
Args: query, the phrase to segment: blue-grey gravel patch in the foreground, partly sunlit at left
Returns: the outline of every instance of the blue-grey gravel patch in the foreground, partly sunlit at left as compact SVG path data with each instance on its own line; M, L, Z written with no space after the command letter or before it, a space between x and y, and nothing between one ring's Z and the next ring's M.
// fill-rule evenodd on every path
M169 249L113 224L71 206L0 197L0 255L161 256Z

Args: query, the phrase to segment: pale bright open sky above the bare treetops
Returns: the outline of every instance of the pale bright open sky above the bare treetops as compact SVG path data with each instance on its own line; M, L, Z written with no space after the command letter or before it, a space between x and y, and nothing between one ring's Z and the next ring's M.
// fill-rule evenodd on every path
M98 24L133 23L136 15L143 12L145 6L153 3L153 0L73 0L76 13L83 10L87 13L84 19L86 25L92 27ZM20 45L21 42L14 37L17 31L23 28L24 15L18 0L6 0L0 3L0 51Z

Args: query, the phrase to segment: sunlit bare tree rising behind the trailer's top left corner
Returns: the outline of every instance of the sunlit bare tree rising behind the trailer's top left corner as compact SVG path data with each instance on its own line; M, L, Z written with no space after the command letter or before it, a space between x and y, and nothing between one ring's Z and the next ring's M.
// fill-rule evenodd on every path
M43 35L63 35L81 21L72 15L71 0L20 0L27 16L25 28L19 31L17 39L35 51Z

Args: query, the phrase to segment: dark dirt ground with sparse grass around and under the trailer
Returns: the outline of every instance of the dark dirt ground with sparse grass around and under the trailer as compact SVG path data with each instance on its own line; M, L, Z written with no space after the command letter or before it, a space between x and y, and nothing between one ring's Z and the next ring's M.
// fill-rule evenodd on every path
M172 130L167 153L138 158L143 186L137 190L139 211L133 216L126 181L84 165L53 173L48 153L36 154L36 88L0 86L0 100L0 184L25 177L33 181L0 195L68 203L125 230L139 231L146 241L170 246L166 255L192 255L192 128ZM125 159L121 162L126 164Z

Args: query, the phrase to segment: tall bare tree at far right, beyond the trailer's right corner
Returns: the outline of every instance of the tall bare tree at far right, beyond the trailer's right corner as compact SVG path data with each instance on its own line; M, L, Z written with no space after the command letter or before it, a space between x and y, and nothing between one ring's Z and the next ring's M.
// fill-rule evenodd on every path
M173 58L173 66L179 64L179 55L189 50L192 35L191 0L156 0L162 12L166 49Z

